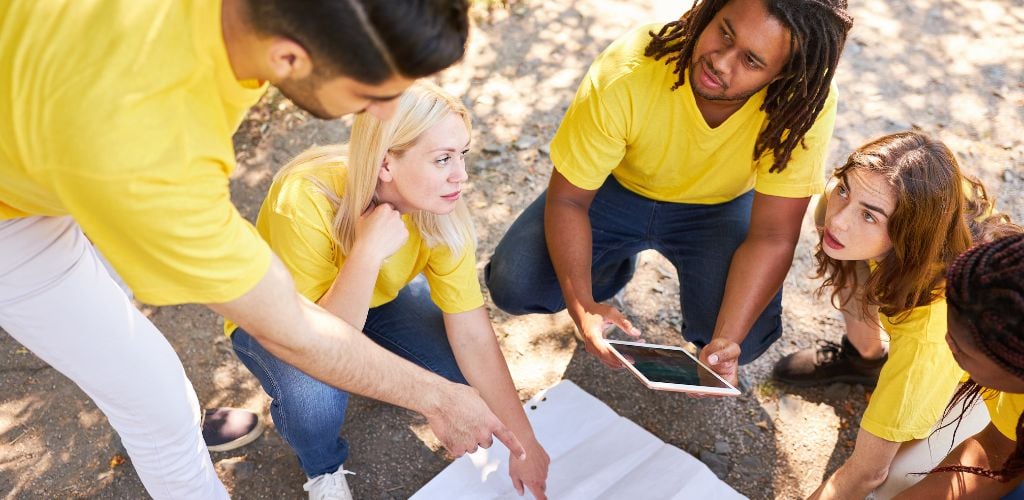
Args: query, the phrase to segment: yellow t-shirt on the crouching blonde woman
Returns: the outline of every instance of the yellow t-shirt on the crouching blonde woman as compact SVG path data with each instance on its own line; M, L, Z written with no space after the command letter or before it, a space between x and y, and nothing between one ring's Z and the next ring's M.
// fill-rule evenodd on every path
M339 164L275 179L256 218L256 228L285 262L296 289L313 302L327 293L345 263L331 236L336 211L323 192L327 187L338 196L344 193L344 168ZM442 311L465 312L483 305L476 276L476 243L468 242L455 255L444 245L429 246L409 215L401 218L409 240L381 266L370 306L394 300L420 273L430 286L430 298ZM225 333L230 335L234 329L232 323L225 322Z

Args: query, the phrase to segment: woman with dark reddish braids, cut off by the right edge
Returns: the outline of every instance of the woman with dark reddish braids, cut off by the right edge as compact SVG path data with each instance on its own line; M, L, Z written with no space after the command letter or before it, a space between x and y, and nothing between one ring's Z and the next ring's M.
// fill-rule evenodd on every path
M947 413L984 400L991 423L899 498L995 498L1024 472L1024 234L972 248L946 277L946 342L970 379Z

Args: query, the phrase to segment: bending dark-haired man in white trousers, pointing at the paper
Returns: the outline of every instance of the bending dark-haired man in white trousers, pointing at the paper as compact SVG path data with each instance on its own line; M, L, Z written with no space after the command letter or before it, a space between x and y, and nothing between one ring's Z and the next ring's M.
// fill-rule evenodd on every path
M522 454L474 389L301 299L228 193L231 133L267 83L323 118L386 119L414 79L462 56L466 8L0 3L0 327L92 398L152 496L226 492L181 363L96 249L140 300L205 303L300 370L423 414L455 455L493 435Z

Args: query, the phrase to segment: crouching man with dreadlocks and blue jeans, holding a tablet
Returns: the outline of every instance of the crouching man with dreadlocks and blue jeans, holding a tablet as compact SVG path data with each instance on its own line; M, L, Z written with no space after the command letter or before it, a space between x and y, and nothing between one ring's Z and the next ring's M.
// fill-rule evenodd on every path
M680 277L684 337L735 384L737 362L781 334L780 289L824 185L851 24L845 0L698 0L613 42L555 134L548 191L486 268L495 303L567 308L587 350L618 366L603 330L640 332L600 302L655 249Z

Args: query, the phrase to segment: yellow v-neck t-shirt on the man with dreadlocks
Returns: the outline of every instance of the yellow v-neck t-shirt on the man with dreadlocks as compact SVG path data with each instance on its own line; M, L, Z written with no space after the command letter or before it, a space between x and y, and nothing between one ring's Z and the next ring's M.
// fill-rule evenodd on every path
M671 90L675 64L643 54L648 32L640 27L614 41L591 66L551 142L555 168L584 190L608 174L646 198L675 203L725 203L758 193L805 198L824 187L824 161L836 123L838 89L793 152L785 170L769 173L773 155L755 161L754 144L767 123L760 111L766 90L716 128L705 121L690 79Z

